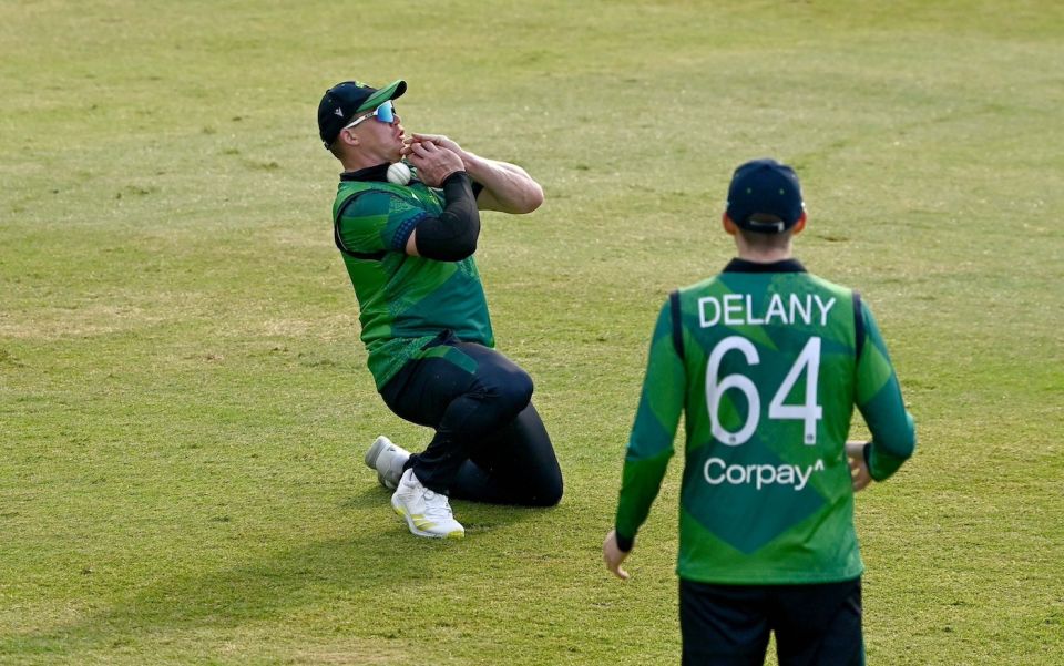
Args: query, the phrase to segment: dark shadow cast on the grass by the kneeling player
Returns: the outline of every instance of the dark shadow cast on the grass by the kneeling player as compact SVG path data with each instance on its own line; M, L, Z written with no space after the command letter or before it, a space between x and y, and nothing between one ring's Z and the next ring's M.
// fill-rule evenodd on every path
M433 577L474 575L464 571L469 555L463 551L478 547L478 535L551 511L454 502L466 539L429 540L409 533L389 498L381 488L367 488L342 500L339 519L358 513L349 537L276 551L206 574L200 571L163 576L79 621L13 638L22 648L59 654L106 649L139 636L269 621L332 594L346 598L350 591L367 600L386 598L408 582L420 585ZM290 530L286 536L290 536ZM530 561L529 566L534 563ZM366 611L371 613L372 608Z

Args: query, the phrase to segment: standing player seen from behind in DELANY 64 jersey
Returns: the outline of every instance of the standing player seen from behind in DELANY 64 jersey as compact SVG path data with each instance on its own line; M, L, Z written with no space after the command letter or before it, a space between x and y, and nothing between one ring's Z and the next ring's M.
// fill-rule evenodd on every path
M853 493L914 449L912 417L860 295L791 255L795 172L739 166L724 229L738 258L669 295L654 328L606 566L621 578L661 488L679 413L683 663L863 664ZM872 440L847 443L853 406Z

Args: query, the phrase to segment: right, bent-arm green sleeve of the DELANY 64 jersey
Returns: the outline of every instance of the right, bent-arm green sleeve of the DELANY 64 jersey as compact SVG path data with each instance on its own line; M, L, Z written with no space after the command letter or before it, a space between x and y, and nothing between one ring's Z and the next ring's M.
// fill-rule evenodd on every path
M872 312L863 303L861 309L864 341L857 361L857 408L872 433L868 471L872 479L883 481L912 455L915 427L912 414L906 411L898 377Z

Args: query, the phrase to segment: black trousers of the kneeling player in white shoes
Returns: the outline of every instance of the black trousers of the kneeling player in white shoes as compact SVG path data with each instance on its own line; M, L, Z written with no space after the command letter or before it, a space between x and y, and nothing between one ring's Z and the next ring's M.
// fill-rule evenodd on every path
M452 498L553 506L562 471L539 413L532 379L502 354L449 331L403 366L380 395L399 417L436 429L407 467Z

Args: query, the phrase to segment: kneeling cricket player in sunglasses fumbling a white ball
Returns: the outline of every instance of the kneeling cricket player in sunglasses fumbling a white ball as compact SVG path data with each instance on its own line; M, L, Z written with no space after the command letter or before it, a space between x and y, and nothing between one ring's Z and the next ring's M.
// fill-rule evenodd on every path
M395 491L410 532L456 539L464 530L449 496L532 506L562 496L532 379L494 349L473 259L481 211L531 213L543 191L523 168L447 136L408 136L395 106L406 90L339 83L321 98L318 130L345 170L334 240L377 390L396 414L436 431L416 454L379 437L365 462Z

